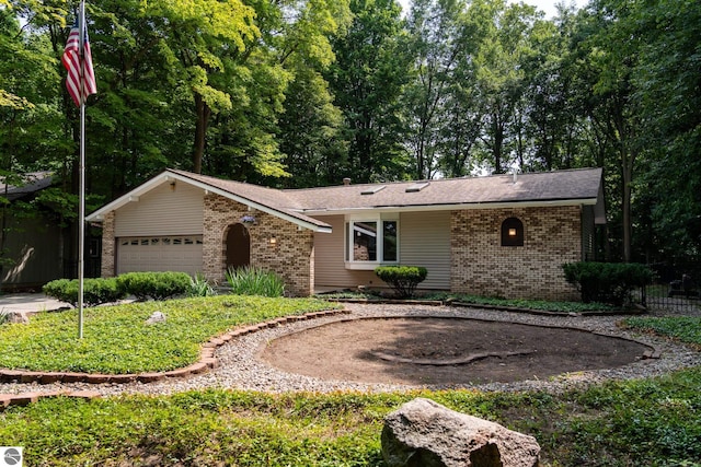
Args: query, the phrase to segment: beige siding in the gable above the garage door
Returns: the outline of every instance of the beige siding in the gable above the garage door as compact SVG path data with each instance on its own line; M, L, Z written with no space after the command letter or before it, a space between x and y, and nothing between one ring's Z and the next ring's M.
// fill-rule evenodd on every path
M202 189L163 184L115 212L115 236L202 235Z

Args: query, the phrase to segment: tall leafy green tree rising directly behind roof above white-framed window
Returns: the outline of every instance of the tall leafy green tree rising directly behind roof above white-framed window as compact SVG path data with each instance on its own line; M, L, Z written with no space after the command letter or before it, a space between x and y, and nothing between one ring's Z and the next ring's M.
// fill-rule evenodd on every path
M395 0L352 0L350 11L353 23L333 39L336 61L325 73L347 126L343 173L358 182L402 178L399 97L411 57L401 8Z

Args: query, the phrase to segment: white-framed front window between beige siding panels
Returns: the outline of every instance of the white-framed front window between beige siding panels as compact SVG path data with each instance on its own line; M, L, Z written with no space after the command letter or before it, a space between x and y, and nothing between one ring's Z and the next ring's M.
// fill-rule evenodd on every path
M397 219L352 219L346 222L346 267L372 269L399 260Z

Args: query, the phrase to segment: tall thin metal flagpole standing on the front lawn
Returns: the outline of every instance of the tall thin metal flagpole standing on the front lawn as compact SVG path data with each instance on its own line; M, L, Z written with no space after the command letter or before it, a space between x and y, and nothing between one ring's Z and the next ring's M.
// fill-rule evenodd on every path
M78 338L83 338L83 292L84 292L84 256L85 256L85 3L80 2L79 19L80 44L80 162L79 171L79 208L78 208Z

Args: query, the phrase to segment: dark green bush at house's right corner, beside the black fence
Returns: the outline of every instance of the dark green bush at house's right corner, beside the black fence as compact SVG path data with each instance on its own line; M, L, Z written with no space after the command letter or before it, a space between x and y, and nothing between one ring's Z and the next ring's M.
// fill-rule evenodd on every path
M577 287L582 301L622 306L630 303L633 289L652 281L645 265L623 262L567 262L562 265L565 279Z

